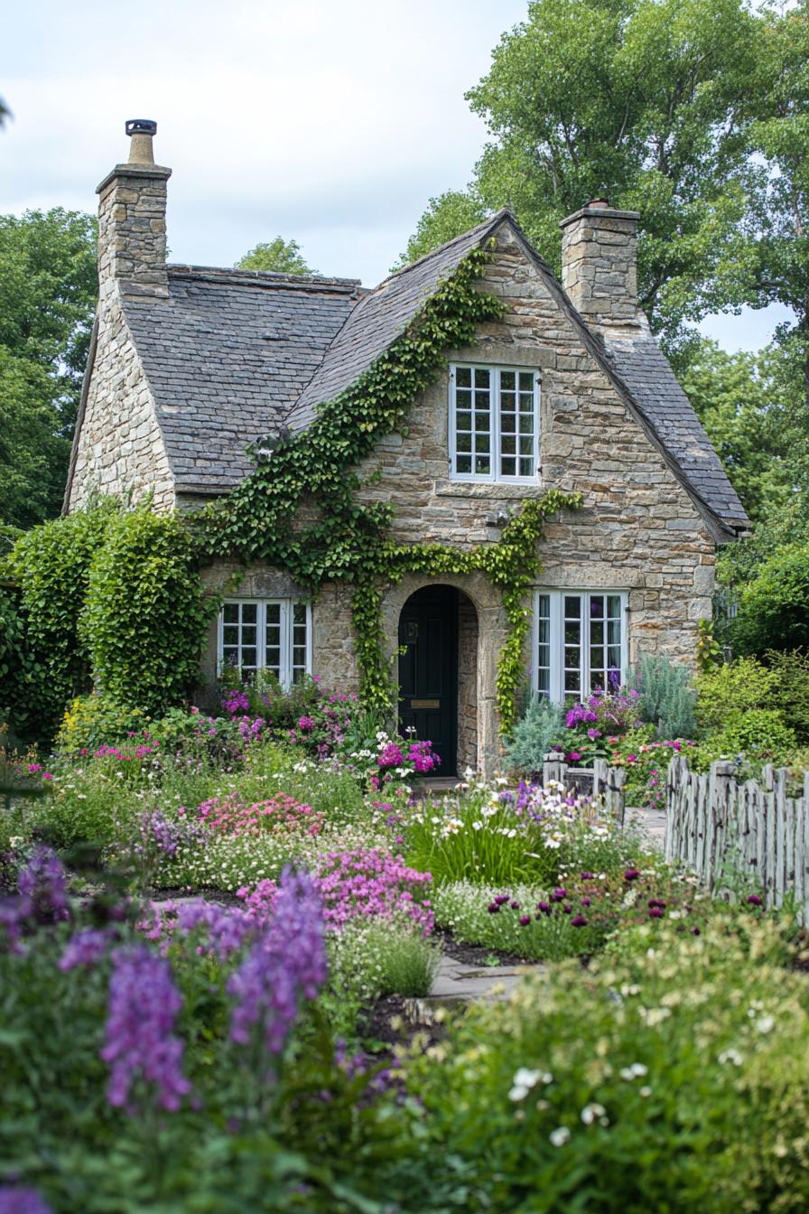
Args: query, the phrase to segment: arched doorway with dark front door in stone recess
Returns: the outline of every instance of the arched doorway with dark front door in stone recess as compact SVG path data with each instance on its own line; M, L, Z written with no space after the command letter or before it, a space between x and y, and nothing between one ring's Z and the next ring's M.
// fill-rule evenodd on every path
M455 586L423 586L399 615L401 730L432 742L438 776L477 767L478 617Z

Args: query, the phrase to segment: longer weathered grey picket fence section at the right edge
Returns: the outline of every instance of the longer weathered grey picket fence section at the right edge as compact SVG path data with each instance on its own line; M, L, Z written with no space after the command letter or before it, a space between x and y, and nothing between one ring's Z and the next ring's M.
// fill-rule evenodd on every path
M760 782L739 781L733 762L707 776L677 755L668 766L666 860L682 862L713 889L723 872L750 868L768 906L794 894L809 923L809 771L798 798L787 796L787 771L764 767Z

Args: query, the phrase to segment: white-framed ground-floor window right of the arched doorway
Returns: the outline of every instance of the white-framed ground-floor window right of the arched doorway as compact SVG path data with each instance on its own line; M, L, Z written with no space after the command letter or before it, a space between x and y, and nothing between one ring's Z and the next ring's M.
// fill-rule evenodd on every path
M554 704L580 700L623 682L628 668L625 590L537 590L534 596L532 683Z

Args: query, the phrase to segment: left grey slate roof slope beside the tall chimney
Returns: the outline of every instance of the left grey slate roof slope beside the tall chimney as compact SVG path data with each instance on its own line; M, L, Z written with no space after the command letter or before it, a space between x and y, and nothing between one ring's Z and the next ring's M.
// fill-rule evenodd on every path
M223 493L284 422L359 280L169 267L169 299L124 297L178 490Z

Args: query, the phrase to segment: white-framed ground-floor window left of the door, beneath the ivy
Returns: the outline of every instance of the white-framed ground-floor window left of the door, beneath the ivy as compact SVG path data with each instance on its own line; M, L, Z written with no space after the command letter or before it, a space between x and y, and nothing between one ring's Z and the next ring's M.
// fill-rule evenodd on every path
M220 668L268 670L289 690L312 671L312 608L295 599L227 599L217 649Z

